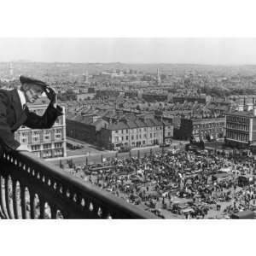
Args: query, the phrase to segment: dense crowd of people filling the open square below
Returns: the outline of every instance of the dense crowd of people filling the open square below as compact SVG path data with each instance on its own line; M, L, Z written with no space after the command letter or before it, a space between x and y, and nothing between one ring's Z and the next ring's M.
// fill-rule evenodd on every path
M74 166L73 173L161 218L230 218L256 207L255 165L251 158L176 150Z

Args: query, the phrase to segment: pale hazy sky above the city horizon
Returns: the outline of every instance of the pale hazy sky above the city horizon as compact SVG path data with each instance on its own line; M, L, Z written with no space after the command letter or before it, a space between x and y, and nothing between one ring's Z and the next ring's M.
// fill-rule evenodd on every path
M0 38L0 61L256 64L256 38Z

